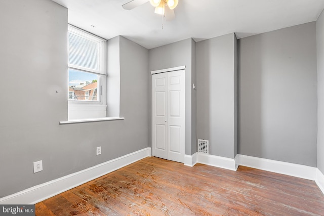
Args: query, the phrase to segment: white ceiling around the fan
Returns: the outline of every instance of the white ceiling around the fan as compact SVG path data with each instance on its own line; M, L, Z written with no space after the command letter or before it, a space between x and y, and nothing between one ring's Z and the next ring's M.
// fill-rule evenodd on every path
M312 22L324 8L324 0L179 0L176 18L165 21L149 3L127 11L121 5L130 0L52 1L68 8L70 24L106 39L122 35L147 49L190 37L200 41L235 32L242 38Z

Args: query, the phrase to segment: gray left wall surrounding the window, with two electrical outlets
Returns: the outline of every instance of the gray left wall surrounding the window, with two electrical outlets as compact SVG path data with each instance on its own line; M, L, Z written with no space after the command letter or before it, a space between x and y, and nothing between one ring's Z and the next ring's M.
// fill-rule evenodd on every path
M146 49L120 38L125 120L59 125L67 120L67 9L4 0L0 24L0 198L149 147ZM38 160L44 170L33 174Z

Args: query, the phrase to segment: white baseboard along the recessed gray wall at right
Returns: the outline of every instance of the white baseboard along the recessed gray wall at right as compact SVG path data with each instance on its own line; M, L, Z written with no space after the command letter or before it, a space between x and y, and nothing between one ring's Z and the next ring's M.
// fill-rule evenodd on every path
M239 165L252 168L262 169L266 171L285 174L302 179L315 180L316 167L305 166L295 163L282 162L277 160L269 160L259 157L237 154L237 162Z

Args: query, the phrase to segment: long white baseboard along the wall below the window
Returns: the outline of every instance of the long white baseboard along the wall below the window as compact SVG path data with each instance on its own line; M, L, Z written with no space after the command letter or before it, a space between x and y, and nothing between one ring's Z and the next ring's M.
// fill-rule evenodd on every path
M151 148L145 148L125 156L75 172L68 176L28 188L18 193L3 197L0 204L35 204L64 191L99 178L116 169L151 156Z

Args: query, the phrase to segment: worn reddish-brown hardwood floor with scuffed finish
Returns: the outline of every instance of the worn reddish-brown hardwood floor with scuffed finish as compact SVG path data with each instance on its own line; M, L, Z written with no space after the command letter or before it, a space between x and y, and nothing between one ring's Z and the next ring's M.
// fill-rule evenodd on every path
M315 182L147 157L36 204L36 215L324 215Z

